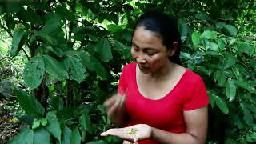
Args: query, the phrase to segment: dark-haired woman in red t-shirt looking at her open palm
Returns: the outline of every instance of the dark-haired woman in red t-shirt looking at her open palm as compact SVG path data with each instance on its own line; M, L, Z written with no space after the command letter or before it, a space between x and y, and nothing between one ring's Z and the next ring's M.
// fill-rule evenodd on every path
M179 65L178 26L167 14L146 13L134 27L131 54L118 94L104 106L110 129L124 143L202 144L206 142L209 99L202 78Z

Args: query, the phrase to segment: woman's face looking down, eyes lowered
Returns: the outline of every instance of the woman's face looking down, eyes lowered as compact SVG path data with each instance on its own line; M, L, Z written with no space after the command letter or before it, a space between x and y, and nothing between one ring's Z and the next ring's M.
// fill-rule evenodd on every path
M131 48L132 58L138 63L142 73L154 73L166 66L171 51L162 44L158 34L138 26L134 31Z

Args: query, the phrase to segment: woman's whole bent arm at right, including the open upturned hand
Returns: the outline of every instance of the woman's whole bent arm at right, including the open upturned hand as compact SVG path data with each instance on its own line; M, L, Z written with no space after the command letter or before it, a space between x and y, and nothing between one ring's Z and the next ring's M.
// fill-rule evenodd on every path
M208 109L203 107L197 110L184 112L186 133L174 134L165 130L156 129L146 124L138 124L125 128L110 129L102 136L117 136L130 142L152 139L163 144L204 144L206 142Z

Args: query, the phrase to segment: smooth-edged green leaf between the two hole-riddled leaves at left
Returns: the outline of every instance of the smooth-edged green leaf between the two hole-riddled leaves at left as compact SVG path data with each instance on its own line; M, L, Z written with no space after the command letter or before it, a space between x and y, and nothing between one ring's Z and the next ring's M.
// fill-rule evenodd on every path
M43 55L43 59L48 74L61 80L65 80L69 77L65 70L65 66L61 62L58 62L55 58L49 55Z

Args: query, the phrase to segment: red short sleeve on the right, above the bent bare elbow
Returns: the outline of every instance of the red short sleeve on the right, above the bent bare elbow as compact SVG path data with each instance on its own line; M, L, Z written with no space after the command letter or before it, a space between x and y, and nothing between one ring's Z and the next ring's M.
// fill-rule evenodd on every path
M199 78L193 87L194 90L186 97L184 110L195 110L209 104L209 97L202 78Z

